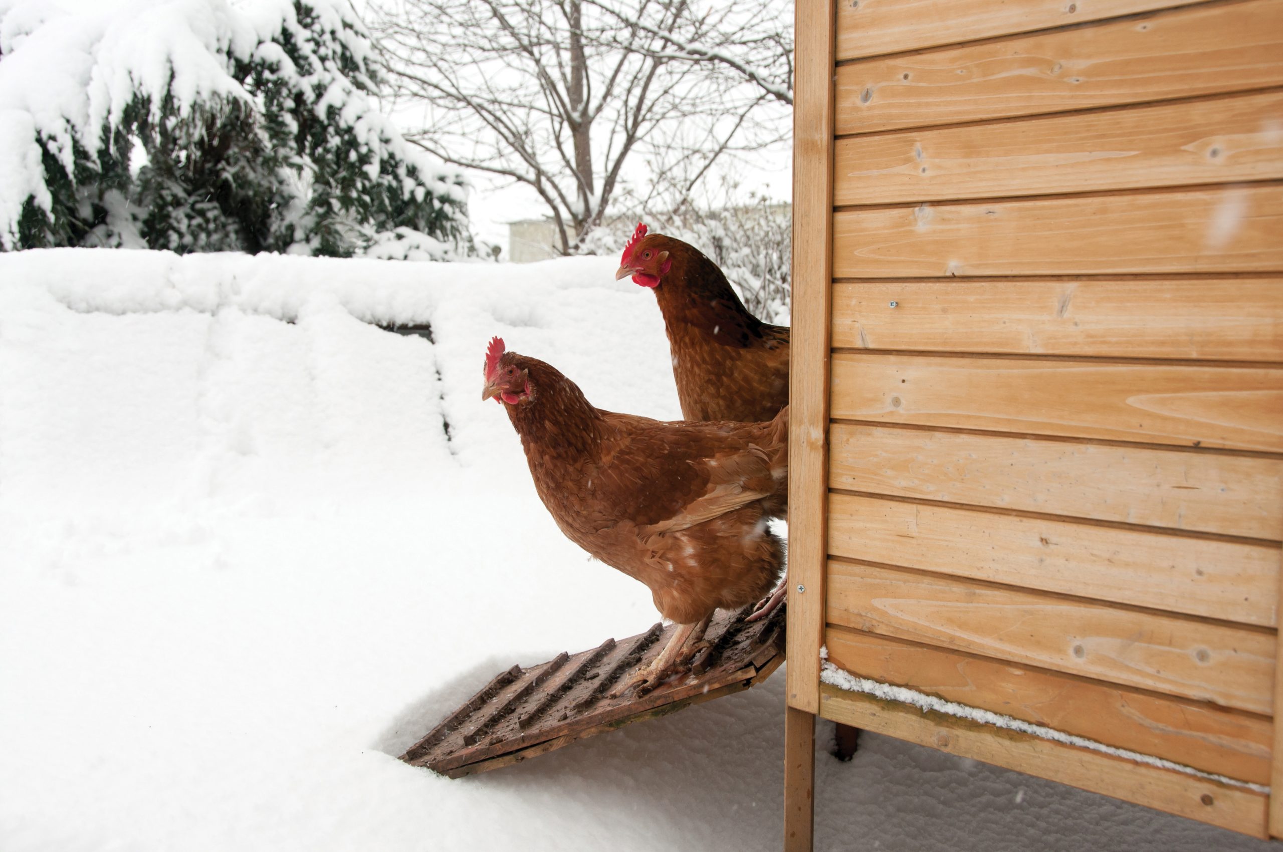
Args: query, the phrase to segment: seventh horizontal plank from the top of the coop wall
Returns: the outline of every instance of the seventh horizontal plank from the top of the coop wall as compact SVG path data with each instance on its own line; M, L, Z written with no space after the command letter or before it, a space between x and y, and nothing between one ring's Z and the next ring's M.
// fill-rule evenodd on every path
M1283 539L1283 461L834 423L851 491Z

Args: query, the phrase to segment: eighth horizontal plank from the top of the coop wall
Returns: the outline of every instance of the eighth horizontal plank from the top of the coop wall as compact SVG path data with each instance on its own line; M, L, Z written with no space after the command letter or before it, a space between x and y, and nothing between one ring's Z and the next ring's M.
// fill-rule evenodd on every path
M1275 625L1279 549L1271 545L831 494L829 552L1025 589Z

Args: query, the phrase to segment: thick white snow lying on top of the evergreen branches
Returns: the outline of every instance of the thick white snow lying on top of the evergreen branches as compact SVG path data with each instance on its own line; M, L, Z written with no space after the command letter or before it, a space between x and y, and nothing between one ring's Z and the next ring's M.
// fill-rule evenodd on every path
M307 9L357 60L370 56L368 33L346 0L307 0ZM313 104L317 117L330 122L328 108L336 108L339 124L372 155L372 181L382 158L394 155L418 169L434 196L466 201L457 172L405 142L346 76L359 72L340 72L310 35L294 0L0 0L0 248L17 245L28 198L51 209L41 140L77 175L74 146L98 157L113 144L104 131L126 126L126 112L140 103L153 123L167 99L181 117L198 105L255 104L234 76L232 58L272 63L269 76L308 98L313 86L323 89ZM316 65L309 76L300 76L282 40Z

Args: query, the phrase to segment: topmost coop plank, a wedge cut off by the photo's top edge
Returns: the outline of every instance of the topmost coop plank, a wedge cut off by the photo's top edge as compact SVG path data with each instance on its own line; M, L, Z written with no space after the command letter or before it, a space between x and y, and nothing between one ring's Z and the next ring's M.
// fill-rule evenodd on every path
M858 0L838 6L838 59L858 59L1049 30L1189 3L1191 0Z

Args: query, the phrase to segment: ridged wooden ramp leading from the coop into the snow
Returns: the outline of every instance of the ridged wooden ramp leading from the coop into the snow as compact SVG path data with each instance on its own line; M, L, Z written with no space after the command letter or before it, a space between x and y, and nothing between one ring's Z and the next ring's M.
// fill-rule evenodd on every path
M784 662L784 606L747 624L749 608L717 612L690 672L638 695L611 698L616 684L650 662L676 625L657 624L622 642L561 653L549 662L500 672L485 689L409 748L402 760L449 778L486 772L545 754L577 739L690 704L742 692Z

